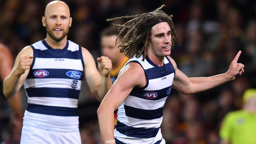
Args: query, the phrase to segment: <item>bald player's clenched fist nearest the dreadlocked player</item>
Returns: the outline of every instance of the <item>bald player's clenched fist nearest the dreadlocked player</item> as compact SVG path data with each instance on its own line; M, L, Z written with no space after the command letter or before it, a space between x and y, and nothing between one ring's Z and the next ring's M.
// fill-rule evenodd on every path
M100 70L100 74L102 76L108 76L110 70L112 69L111 60L108 57L101 56L97 58L98 61L98 69Z

